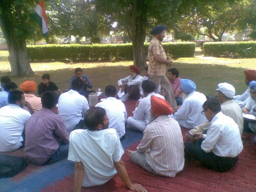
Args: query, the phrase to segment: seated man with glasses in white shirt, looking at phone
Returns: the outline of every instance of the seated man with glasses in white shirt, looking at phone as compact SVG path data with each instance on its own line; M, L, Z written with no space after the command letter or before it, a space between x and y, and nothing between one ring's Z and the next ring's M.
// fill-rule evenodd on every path
M193 134L195 139L200 139L198 142L185 143L185 158L200 161L215 171L229 171L237 163L238 155L243 150L238 125L221 112L217 99L205 101L202 114L210 122L210 129L207 134Z

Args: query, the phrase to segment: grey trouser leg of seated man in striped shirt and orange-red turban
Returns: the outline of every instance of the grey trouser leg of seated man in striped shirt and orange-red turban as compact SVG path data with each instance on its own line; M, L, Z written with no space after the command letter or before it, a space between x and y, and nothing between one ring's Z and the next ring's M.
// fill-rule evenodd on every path
M135 165L139 165L140 167L153 173L154 175L158 175L147 163L145 153L133 151L130 155L130 159Z

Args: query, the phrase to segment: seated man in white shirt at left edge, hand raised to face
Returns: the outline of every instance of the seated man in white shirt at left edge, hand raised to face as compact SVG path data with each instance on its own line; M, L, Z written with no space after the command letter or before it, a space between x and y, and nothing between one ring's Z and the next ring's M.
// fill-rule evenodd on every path
M8 95L9 105L0 109L0 152L9 152L24 146L24 127L34 113L31 105L25 101L22 91L11 91ZM22 109L27 107L27 110Z

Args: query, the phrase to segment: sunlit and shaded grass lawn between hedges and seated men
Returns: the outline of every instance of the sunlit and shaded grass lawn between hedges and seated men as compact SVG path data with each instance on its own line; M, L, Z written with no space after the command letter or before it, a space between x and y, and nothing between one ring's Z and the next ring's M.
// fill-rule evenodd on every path
M8 51L0 51L0 77L8 75L10 64L8 61ZM204 94L216 95L217 84L227 82L232 84L237 94L243 93L245 85L245 69L256 69L256 59L228 59L216 57L204 57L200 50L195 57L178 58L174 61L173 67L180 72L179 77L193 80L197 85L197 91ZM37 84L41 82L41 76L48 73L51 81L55 82L62 90L67 90L69 80L74 75L74 69L81 67L84 74L89 76L93 83L93 89L102 88L107 85L117 87L117 81L129 75L129 65L132 61L126 62L98 62L98 63L63 63L63 62L44 62L31 63L35 72L33 77L11 77L18 87L26 80L34 80ZM144 72L142 72L144 76Z

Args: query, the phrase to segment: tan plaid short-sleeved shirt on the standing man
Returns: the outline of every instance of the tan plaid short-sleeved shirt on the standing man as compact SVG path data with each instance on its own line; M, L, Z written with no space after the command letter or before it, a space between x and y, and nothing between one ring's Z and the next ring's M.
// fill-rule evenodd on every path
M165 75L167 65L156 62L156 55L160 55L164 59L167 58L161 42L153 37L148 46L148 74L153 76Z

